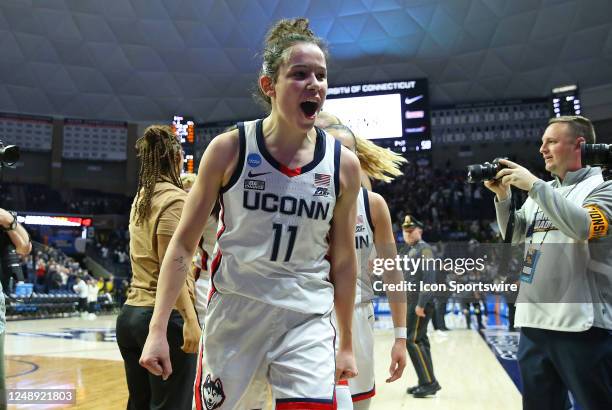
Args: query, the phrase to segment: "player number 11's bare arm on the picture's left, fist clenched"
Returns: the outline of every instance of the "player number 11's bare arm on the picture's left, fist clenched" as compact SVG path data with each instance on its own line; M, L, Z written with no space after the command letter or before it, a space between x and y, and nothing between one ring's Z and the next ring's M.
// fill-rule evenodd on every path
M172 307L189 273L191 258L202 236L219 191L238 162L238 131L212 140L202 161L196 182L187 196L181 220L168 244L157 281L155 308L140 364L165 379L172 373L166 331Z

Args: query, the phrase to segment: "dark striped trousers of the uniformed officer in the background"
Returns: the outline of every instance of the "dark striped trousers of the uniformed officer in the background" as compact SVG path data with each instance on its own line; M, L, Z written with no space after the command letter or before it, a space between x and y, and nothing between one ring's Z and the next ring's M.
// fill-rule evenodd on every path
M415 307L415 303L408 305L406 348L419 378L419 385L423 385L436 381L431 361L429 338L427 337L427 324L431 320L434 308L433 304L428 303L425 305L425 317L419 317L414 313Z

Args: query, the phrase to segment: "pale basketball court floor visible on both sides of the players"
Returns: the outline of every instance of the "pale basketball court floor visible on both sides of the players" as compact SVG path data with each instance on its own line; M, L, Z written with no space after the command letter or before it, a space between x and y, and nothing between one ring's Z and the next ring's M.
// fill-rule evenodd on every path
M115 318L82 318L9 322L5 340L7 388L75 389L76 405L9 406L19 409L124 409L127 386L121 355L104 330ZM79 338L66 339L70 334ZM385 383L393 336L376 333L376 391L372 410L517 410L520 393L476 331L430 334L434 369L442 390L415 399L406 387L416 384L410 362L401 380Z

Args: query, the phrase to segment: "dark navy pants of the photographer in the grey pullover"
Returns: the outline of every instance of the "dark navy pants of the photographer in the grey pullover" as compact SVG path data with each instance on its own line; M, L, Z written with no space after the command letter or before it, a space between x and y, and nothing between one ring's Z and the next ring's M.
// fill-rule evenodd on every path
M521 328L518 360L524 410L612 409L612 331Z

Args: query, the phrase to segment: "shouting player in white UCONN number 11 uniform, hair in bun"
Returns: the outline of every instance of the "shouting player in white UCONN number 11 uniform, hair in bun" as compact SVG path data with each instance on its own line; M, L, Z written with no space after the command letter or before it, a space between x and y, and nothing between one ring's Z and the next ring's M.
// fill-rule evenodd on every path
M270 104L206 149L168 247L141 363L171 374L166 324L219 197L212 291L194 393L197 408L332 409L335 380L357 374L351 319L359 161L314 128L327 92L326 55L306 19L268 33L259 78ZM338 317L340 348L334 366Z

